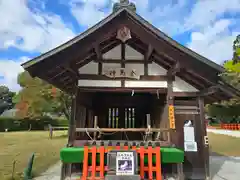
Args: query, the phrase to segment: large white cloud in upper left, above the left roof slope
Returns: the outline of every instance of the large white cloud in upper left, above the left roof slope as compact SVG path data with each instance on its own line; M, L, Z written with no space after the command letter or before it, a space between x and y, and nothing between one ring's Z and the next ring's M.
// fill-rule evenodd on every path
M44 8L43 4L41 7ZM45 52L75 36L56 14L30 10L25 0L0 0L0 49Z

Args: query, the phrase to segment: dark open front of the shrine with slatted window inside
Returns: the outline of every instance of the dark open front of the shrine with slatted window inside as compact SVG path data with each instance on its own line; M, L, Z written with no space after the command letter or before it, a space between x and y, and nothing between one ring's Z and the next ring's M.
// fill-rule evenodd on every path
M151 93L105 93L94 95L93 106L101 128L145 128L147 114L151 114L151 124L154 125L154 114L159 110L154 108L155 101L164 102L164 96L157 99ZM163 104L163 103L160 103ZM160 118L160 116L158 117ZM106 134L103 140L143 140L142 132L116 132Z

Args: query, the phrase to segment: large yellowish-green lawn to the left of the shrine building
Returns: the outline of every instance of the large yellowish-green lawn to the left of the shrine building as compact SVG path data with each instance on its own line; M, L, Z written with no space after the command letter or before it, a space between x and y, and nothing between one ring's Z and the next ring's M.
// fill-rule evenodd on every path
M33 152L33 174L44 172L59 161L59 151L67 143L66 134L67 131L55 131L53 139L50 140L47 131L0 133L0 180L11 179L14 161L14 177L21 179Z

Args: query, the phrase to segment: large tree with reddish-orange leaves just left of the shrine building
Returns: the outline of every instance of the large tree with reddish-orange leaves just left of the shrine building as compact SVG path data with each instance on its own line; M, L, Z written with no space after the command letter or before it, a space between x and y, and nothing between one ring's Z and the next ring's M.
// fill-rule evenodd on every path
M18 117L55 114L69 119L71 98L68 94L39 78L32 78L27 71L18 75L18 84L22 87L15 98Z

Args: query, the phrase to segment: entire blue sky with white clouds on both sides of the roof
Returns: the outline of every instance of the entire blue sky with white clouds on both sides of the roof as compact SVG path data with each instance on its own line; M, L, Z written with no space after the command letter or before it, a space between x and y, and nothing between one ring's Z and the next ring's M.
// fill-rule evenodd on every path
M118 0L0 0L0 85L19 90L20 64L83 32ZM240 34L240 0L130 0L170 37L221 64Z

